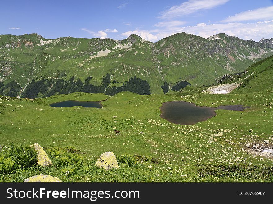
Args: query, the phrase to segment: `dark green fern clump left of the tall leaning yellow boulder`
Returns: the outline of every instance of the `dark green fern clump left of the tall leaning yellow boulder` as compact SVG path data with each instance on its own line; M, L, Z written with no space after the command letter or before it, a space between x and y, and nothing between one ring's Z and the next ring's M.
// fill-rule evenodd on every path
M31 167L37 164L38 153L34 148L11 144L4 153L6 158L10 157L12 161L15 161L21 167Z

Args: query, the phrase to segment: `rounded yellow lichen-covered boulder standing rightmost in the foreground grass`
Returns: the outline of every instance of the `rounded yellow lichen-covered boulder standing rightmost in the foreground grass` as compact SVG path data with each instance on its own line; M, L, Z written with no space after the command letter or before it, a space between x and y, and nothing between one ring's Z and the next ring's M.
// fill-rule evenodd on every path
M96 166L109 170L111 168L119 169L118 161L113 152L103 153L96 162Z

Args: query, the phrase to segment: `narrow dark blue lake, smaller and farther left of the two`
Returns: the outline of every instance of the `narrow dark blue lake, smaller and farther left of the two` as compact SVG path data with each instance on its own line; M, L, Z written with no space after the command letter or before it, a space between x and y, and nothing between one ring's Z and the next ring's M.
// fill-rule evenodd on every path
M83 106L86 108L101 108L102 104L100 101L61 101L57 103L49 104L52 107L72 107L72 106Z

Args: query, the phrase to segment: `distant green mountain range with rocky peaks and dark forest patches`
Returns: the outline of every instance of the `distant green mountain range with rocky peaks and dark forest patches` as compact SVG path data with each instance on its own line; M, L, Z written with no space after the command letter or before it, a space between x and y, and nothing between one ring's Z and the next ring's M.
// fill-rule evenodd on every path
M226 34L179 33L156 43L135 34L124 40L0 35L0 94L163 94L216 83L272 54L270 43Z

